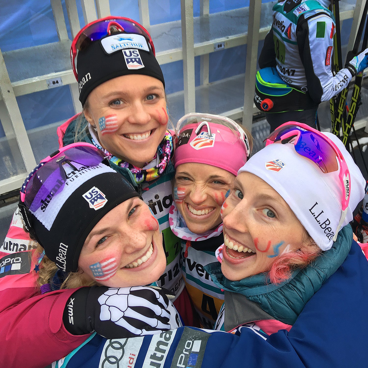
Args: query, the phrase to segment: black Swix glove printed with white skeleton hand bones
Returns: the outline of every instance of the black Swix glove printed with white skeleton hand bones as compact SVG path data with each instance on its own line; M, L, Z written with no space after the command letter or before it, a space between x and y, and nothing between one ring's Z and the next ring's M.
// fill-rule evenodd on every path
M96 331L107 339L167 331L170 312L166 291L151 286L83 287L68 299L63 323L72 335Z

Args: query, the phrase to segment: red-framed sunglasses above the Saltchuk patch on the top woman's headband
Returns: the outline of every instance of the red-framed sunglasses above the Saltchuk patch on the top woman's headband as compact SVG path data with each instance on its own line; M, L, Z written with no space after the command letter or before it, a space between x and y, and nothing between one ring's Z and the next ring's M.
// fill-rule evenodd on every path
M75 59L78 51L86 49L93 41L98 41L105 36L110 36L112 32L136 33L144 36L151 46L153 55L156 56L151 35L142 25L130 18L113 17L109 15L108 17L88 23L74 37L70 47L70 61L75 79L78 80L77 68L75 66Z

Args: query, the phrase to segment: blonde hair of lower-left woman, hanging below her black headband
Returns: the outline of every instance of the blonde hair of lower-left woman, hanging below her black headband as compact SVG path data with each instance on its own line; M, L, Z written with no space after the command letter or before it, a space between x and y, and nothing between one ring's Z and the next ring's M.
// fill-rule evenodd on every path
M36 247L36 256L39 257L39 255L43 252L42 246L37 243ZM59 268L56 266L56 263L51 261L47 256L45 255L40 262L39 265L39 271L37 272L38 278L37 278L37 286L40 288L44 284L48 284L50 280L54 277L55 273L59 270ZM33 272L36 272L33 270ZM95 286L98 285L97 282L91 280L89 282L86 282L85 278L82 276L83 271L78 267L77 272L70 272L65 279L65 281L61 284L60 289L74 289L76 287L81 286Z

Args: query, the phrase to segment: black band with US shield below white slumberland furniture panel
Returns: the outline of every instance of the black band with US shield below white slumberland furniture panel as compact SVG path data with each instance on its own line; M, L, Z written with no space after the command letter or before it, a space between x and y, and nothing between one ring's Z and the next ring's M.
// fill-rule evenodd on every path
M102 208L95 209L93 205L96 206L99 199L103 200L101 192L107 201ZM89 197L91 200L88 201ZM108 172L96 175L72 192L50 230L31 212L27 215L47 257L61 270L76 272L79 254L93 227L106 213L132 197L139 197L133 186L121 174ZM49 206L52 206L52 201Z

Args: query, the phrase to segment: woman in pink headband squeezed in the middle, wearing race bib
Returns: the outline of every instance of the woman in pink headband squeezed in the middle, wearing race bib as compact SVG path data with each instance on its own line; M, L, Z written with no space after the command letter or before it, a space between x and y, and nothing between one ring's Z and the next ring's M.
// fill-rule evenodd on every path
M221 206L249 157L250 134L229 118L198 113L183 116L177 133L169 223L182 239L185 285L199 324L213 328L224 295L204 266L216 261L215 251L223 244Z

